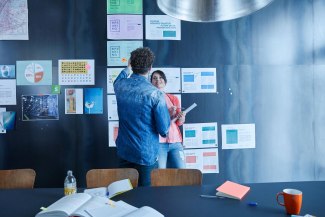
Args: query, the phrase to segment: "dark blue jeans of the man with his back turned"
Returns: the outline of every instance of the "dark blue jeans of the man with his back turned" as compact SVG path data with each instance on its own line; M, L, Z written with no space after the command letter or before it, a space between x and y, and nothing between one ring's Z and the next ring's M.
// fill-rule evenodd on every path
M120 167L121 168L134 168L138 171L139 173L139 181L138 181L138 186L150 186L151 185L151 170L156 169L158 164L157 161L150 166L145 166L145 165L140 165L136 163L132 163L129 161L126 161L122 158L120 158Z

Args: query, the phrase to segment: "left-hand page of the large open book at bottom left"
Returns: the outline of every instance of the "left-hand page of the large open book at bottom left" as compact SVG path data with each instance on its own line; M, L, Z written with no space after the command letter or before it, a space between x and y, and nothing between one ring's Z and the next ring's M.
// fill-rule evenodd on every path
M86 203L91 198L90 195L77 193L65 196L49 207L46 210L38 213L36 217L55 215L55 216L70 216L75 210Z

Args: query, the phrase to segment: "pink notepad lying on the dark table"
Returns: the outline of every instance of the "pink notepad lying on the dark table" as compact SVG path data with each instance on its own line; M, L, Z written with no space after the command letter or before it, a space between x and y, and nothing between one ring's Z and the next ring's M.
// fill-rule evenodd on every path
M217 188L218 192L216 193L216 195L220 197L229 197L241 200L249 190L250 187L248 186L240 185L231 181L226 181Z

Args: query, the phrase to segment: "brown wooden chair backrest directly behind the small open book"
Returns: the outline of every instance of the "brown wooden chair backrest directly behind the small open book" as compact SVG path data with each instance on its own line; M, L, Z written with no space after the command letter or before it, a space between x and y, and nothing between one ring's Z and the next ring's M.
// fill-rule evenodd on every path
M132 186L138 186L139 173L133 168L92 169L86 174L87 188L107 187L122 179L130 179Z

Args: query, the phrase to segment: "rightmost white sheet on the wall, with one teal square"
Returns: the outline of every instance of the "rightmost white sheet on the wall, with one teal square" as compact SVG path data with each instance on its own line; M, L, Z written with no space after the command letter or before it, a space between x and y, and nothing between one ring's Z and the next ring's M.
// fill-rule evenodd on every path
M221 125L222 149L255 148L255 124Z

